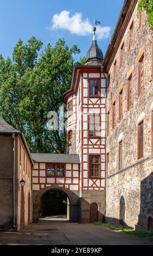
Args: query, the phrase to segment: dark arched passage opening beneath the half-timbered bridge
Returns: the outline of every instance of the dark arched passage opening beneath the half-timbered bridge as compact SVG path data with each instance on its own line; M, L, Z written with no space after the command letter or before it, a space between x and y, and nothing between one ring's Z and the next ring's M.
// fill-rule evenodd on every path
M41 197L40 217L46 220L69 220L69 199L60 190L47 191Z

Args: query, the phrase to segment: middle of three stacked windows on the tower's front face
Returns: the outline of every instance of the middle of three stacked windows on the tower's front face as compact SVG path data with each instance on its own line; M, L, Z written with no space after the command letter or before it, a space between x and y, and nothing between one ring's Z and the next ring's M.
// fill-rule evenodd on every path
M100 136L99 114L89 114L89 136Z

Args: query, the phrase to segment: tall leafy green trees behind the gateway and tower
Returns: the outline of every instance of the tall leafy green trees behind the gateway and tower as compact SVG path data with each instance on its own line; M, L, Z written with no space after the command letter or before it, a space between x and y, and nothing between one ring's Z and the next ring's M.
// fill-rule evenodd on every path
M31 151L65 153L66 132L48 131L47 113L58 113L70 88L73 55L80 51L76 45L69 49L64 39L41 49L33 36L26 44L17 42L12 60L0 55L0 115L25 133Z

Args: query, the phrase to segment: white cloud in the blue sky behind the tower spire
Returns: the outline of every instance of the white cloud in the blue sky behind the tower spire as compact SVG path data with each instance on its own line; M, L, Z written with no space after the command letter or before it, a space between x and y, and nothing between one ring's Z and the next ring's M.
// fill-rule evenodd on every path
M72 34L84 36L93 33L93 25L89 19L82 20L81 13L75 13L70 17L70 11L62 11L60 14L54 14L52 18L51 30L66 29ZM111 27L97 26L96 35L98 39L109 37Z

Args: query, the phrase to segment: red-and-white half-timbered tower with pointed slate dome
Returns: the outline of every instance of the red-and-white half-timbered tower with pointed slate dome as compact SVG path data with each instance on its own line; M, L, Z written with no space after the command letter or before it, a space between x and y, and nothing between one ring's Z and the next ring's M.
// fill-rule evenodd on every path
M105 208L107 74L95 39L96 28L93 32L86 63L74 66L71 89L64 94L68 106L69 153L78 154L81 161L81 222L101 221Z

